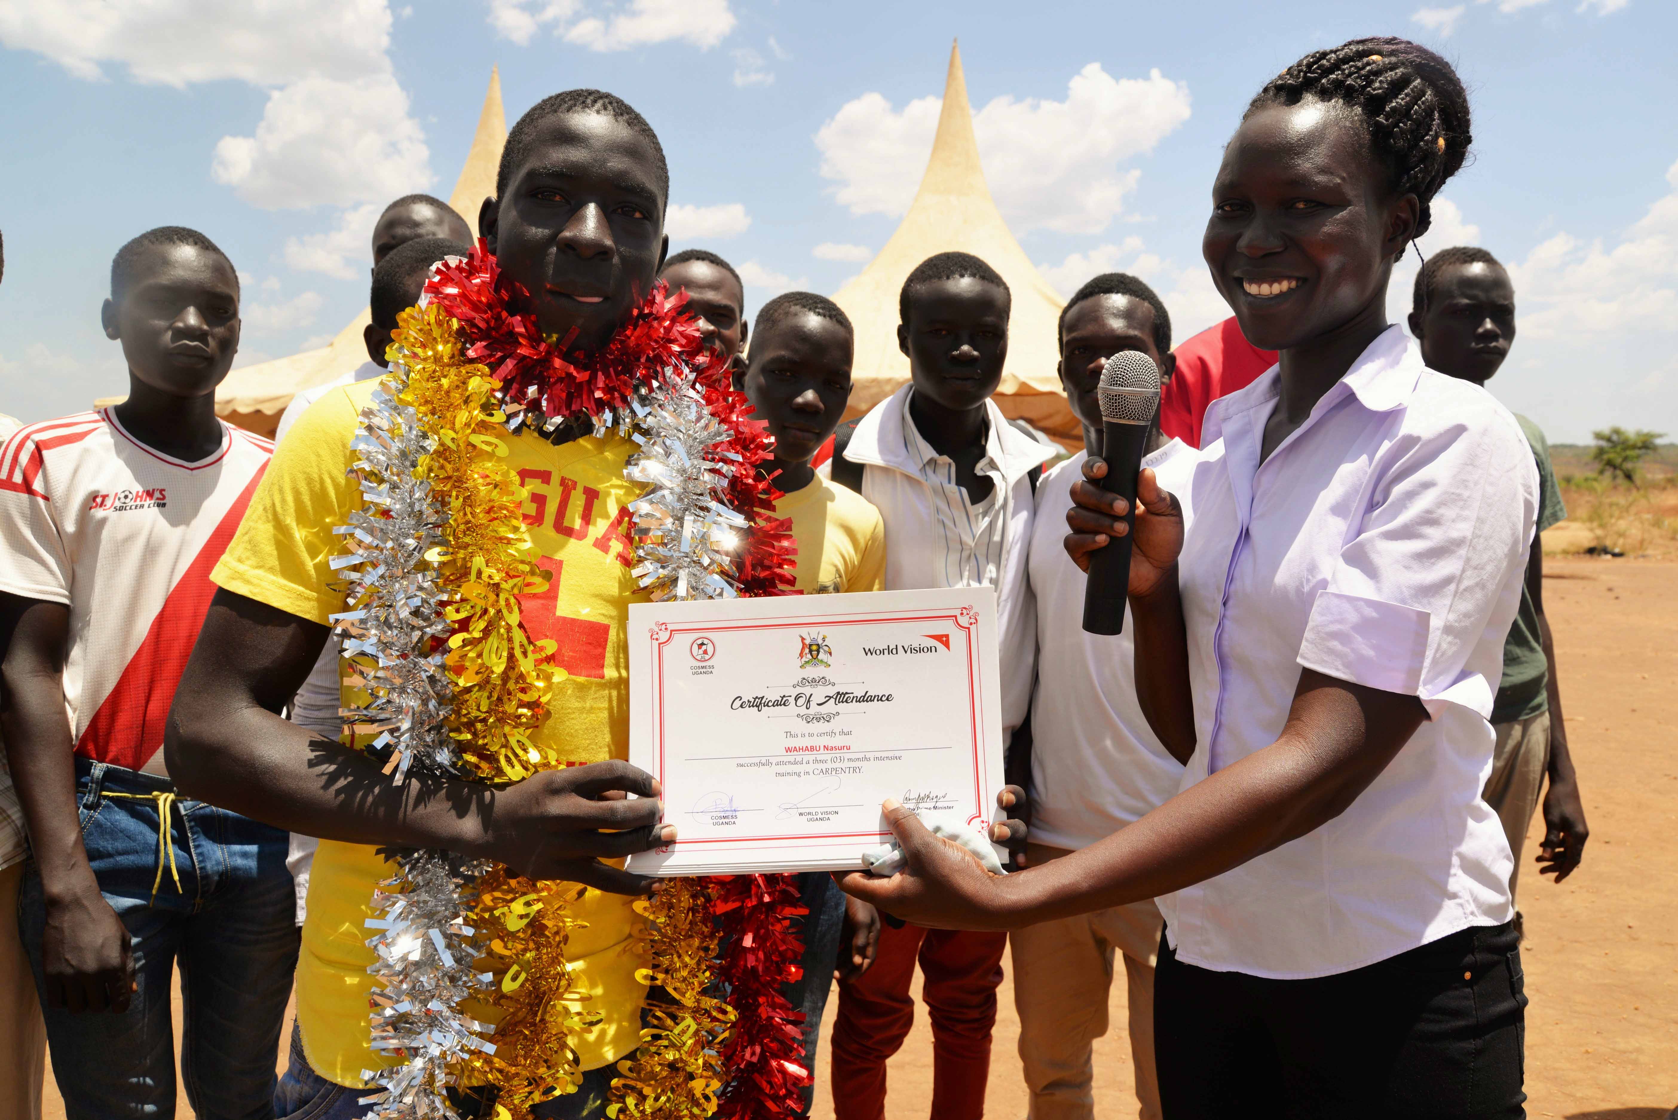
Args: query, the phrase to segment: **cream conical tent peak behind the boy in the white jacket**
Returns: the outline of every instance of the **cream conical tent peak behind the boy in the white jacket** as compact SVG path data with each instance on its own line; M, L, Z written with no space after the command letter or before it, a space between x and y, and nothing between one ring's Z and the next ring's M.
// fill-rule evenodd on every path
M1055 327L1064 301L1014 240L985 185L973 136L973 111L961 76L961 50L950 47L950 77L926 175L896 233L834 302L856 326L847 416L859 416L909 379L909 359L898 349L898 292L915 265L933 254L968 252L1002 274L1014 294L1008 316L1008 363L997 390L1003 415L1024 418L1062 442L1082 435L1055 373Z

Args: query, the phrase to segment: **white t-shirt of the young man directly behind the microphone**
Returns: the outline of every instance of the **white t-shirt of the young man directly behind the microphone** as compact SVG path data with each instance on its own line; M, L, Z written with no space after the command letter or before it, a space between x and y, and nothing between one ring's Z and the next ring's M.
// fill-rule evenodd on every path
M1037 601L1037 693L1032 700L1032 840L1086 848L1159 808L1183 782L1183 764L1153 734L1136 700L1134 626L1084 631L1089 579L1066 554L1066 510L1087 455L1079 452L1037 485L1029 571ZM1143 458L1188 509L1195 448L1171 440Z

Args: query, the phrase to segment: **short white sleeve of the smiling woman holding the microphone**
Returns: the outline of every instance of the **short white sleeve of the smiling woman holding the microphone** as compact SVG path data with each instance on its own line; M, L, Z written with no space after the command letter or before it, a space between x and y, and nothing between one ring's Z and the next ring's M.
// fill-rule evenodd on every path
M1488 717L1520 599L1537 477L1520 430L1478 411L1401 433L1371 467L1356 534L1317 593L1299 663Z

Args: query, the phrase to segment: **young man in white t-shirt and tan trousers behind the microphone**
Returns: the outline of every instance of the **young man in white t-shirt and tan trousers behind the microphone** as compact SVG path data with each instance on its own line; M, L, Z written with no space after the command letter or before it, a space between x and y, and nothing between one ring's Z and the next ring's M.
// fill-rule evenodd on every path
M1171 319L1133 275L1089 280L1060 312L1060 385L1084 427L1084 450L1037 487L1030 574L1037 601L1037 690L1032 699L1027 863L1037 866L1086 848L1176 793L1183 764L1148 727L1136 702L1134 626L1113 636L1084 633L1086 578L1066 554L1066 510L1084 460L1101 455L1096 386L1121 351L1146 354L1170 379ZM1143 467L1186 494L1195 450L1166 438L1158 418ZM1019 741L1015 741L1019 754ZM1163 919L1153 900L1055 919L1014 930L1014 1006L1032 1120L1091 1120L1092 1043L1107 1033L1114 954L1124 959L1131 1060L1143 1120L1159 1117L1153 1053L1153 972Z

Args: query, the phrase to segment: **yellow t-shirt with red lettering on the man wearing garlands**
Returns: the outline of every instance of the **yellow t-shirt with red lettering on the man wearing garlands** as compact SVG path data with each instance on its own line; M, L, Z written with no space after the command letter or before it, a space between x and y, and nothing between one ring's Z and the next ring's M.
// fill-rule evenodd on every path
M344 475L349 442L378 381L344 386L320 398L275 453L211 579L290 615L326 623L344 610L329 559L341 551L334 526L359 507L361 492ZM624 626L629 603L646 601L629 574L629 502L641 487L623 477L636 445L609 435L564 447L534 437L508 440L508 467L530 490L525 524L552 571L549 589L524 598L534 638L554 638L569 670L552 695L537 742L559 746L577 762L629 757L629 665ZM857 499L859 500L859 499ZM876 516L878 521L878 516ZM346 690L347 692L347 690ZM329 1081L361 1088L362 1070L394 1065L369 1043L367 992L373 950L362 927L374 883L389 875L376 848L322 841L309 883L309 917L297 959L297 1021L309 1065ZM631 900L584 893L574 913L587 929L571 937L577 984L599 1026L576 1039L584 1070L604 1066L639 1043L646 986L633 952Z

